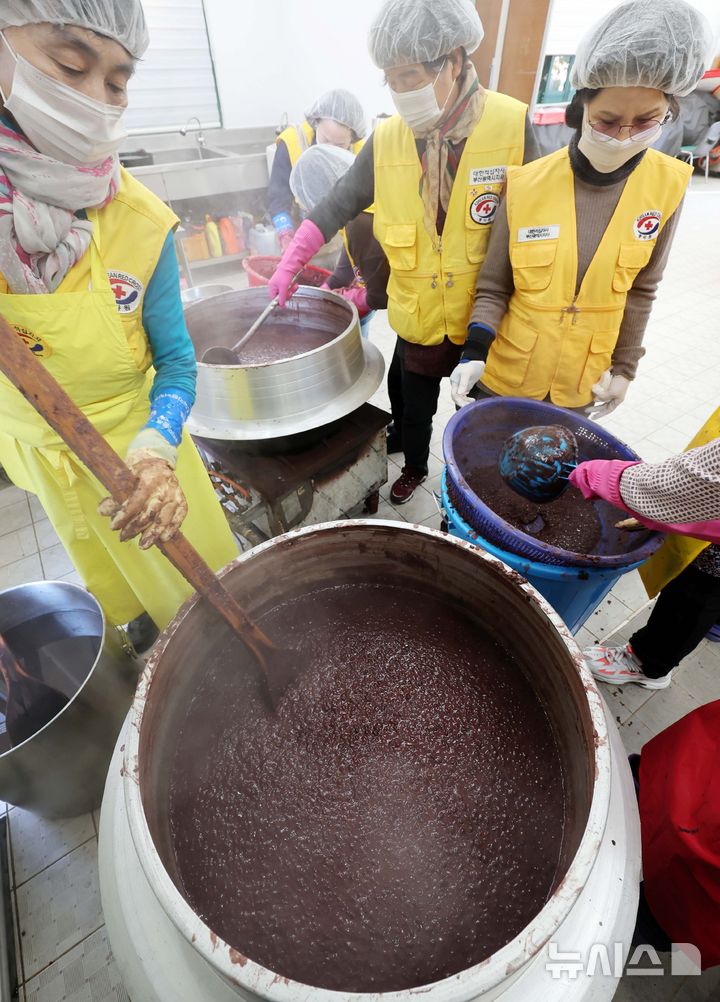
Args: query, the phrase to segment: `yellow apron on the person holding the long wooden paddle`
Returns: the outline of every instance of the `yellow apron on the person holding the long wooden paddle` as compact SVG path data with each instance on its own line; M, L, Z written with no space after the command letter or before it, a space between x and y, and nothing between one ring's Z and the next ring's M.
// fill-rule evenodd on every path
M118 316L93 222L91 287L46 296L0 295L0 314L72 397L118 455L146 423L152 371L141 372ZM0 464L36 494L87 589L112 625L146 611L162 629L192 592L159 550L121 543L97 514L107 491L30 404L0 375ZM182 531L218 570L237 555L232 534L189 436L178 449L177 477L189 514Z

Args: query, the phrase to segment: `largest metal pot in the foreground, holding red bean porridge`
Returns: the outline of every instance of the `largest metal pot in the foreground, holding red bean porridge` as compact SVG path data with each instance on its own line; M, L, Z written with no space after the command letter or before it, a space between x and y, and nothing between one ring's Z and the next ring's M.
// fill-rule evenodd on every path
M301 574L293 573L301 568ZM609 1000L617 979L555 980L548 943L561 951L629 944L637 907L640 840L630 771L615 725L575 641L537 591L477 547L397 522L341 522L298 530L245 553L222 573L252 613L333 580L432 583L472 608L502 637L533 680L553 723L568 783L569 824L553 896L513 942L461 974L400 1002ZM223 630L197 600L167 628L138 686L110 767L100 826L100 885L113 954L135 1002L366 1002L288 981L222 942L178 889L165 805L178 729L198 672L221 649ZM611 783L612 774L612 783ZM559 777L558 782L562 782Z

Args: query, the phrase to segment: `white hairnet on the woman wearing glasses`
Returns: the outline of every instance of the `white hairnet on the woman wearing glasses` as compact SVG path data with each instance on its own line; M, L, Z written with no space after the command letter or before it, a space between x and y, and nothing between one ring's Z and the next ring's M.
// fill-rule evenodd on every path
M685 0L630 0L581 40L573 86L652 87L684 97L705 72L712 43L707 18Z

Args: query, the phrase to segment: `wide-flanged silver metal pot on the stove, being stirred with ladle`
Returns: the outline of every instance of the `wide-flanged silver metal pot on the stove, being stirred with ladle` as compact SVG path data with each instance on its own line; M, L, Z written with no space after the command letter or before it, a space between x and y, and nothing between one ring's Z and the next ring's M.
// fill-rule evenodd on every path
M197 357L197 399L188 428L205 439L259 441L294 435L365 404L383 379L379 350L361 336L355 308L340 296L301 287L272 323L326 332L320 348L248 366L204 365L207 348L231 348L267 306L266 289L243 289L185 309ZM262 329L255 335L262 337Z

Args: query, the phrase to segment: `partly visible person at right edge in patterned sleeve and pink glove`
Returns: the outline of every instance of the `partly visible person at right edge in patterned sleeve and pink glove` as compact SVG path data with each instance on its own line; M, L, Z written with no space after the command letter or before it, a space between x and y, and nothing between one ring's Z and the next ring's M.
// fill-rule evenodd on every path
M647 625L627 644L585 651L600 681L666 688L673 669L720 619L720 409L682 456L663 463L593 460L570 480L588 500L610 501L671 533L640 568L650 597L659 594Z

